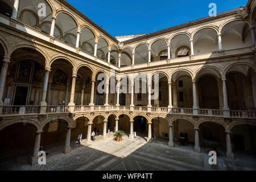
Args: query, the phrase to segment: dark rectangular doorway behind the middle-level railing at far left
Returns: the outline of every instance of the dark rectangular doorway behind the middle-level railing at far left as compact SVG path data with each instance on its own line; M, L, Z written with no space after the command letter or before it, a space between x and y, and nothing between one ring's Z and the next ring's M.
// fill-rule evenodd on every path
M27 93L28 93L27 86L16 86L16 92L15 92L13 105L17 105L17 106L26 105Z

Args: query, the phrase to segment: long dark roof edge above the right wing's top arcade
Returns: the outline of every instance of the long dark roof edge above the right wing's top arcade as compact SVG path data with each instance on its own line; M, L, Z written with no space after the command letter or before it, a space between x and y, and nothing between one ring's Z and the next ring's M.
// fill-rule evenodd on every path
M241 6L241 7L246 8L246 6ZM124 44L129 44L129 43L137 42L138 40L151 38L151 37L154 37L154 36L157 36L157 35L165 34L165 33L170 32L170 31L178 30L180 28L185 28L185 27L188 27L188 26L192 26L196 23L204 23L204 22L207 22L208 20L214 20L214 19L218 19L218 18L223 17L223 16L232 15L232 14L236 13L237 10L240 9L241 7L238 7L237 9L233 9L233 10L230 10L230 11L226 11L224 13L217 14L217 16L213 16L213 17L208 16L208 17L205 17L205 18L200 18L200 19L197 19L197 20L193 20L192 22L183 23L183 24L179 24L179 25L174 26L174 27L170 27L170 28L166 28L166 29L159 30L159 31L156 31L156 32L152 32L150 34L145 34L145 35L139 36L137 38L126 40L123 43Z

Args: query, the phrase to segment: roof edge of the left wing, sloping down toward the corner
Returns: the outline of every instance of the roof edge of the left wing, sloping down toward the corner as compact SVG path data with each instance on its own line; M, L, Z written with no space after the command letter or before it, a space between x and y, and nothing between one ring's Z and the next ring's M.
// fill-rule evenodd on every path
M114 38L114 36L110 35L108 32L106 32L103 28L101 28L100 26L98 26L98 24L94 23L90 18L88 18L86 15L84 15L83 13L81 13L80 10L76 9L74 6L72 6L70 3L68 3L66 0L59 0L61 3L64 3L66 6L68 6L70 9L72 9L73 11L75 11L77 14L79 14L82 18L84 18L86 21L88 21L89 23L93 24L93 26L95 26L98 30L102 31L104 34L106 34L107 36L109 36L109 38L111 38L112 40L114 40L115 43L118 43L118 40Z

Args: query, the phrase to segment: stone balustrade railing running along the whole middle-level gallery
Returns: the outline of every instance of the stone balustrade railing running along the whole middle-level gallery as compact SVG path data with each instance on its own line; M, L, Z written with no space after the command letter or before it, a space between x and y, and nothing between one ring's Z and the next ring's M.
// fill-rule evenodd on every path
M18 114L50 114L50 113L90 113L91 111L134 111L142 113L180 114L180 115L207 115L223 117L224 111L217 109L168 108L144 106L0 106L1 115ZM196 114L195 114L196 113ZM256 110L230 110L231 118L256 119Z

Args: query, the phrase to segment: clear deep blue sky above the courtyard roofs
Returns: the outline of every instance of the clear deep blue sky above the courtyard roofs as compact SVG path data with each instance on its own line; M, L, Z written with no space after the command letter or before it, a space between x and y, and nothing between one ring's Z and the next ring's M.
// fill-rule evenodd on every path
M247 0L67 0L112 36L147 34L245 6Z

